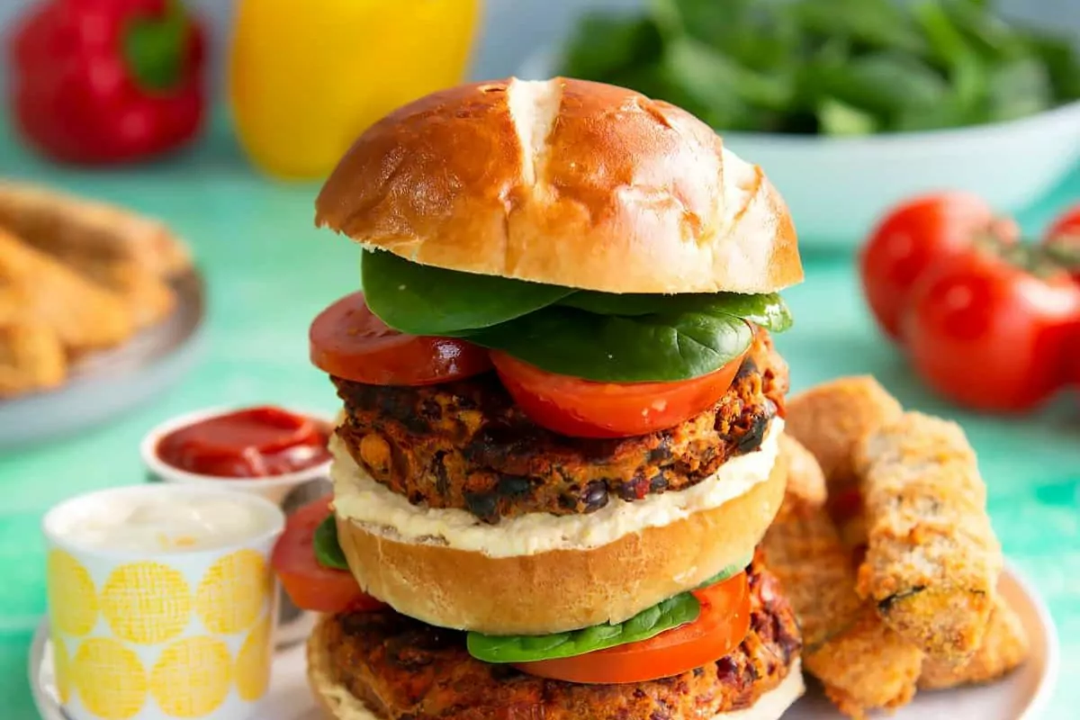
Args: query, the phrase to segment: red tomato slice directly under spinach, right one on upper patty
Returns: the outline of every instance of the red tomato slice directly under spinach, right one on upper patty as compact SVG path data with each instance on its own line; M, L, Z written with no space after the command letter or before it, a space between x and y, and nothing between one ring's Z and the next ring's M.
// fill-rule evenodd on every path
M535 423L571 437L630 437L677 425L728 392L745 354L679 382L593 382L541 370L505 353L491 362L514 403Z

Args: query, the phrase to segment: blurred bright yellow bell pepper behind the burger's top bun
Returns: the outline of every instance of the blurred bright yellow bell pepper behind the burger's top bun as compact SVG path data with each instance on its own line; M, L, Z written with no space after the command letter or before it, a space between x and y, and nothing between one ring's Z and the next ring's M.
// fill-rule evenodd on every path
M324 177L376 120L460 83L481 0L240 0L229 96L244 151Z

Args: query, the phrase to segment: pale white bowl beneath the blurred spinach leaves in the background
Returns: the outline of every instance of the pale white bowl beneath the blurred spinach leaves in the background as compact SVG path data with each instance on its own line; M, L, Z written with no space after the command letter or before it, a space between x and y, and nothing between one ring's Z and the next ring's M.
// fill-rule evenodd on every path
M545 79L557 68L557 53L545 49L519 77ZM851 248L890 206L924 192L968 190L1002 213L1030 205L1080 161L1080 101L1012 122L918 133L718 132L780 190L802 245Z

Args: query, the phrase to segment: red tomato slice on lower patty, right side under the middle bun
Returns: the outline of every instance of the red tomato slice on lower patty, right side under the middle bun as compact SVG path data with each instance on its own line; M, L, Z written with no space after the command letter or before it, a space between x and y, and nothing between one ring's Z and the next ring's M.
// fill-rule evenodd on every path
M610 684L669 678L713 663L738 648L750 631L746 573L693 594L701 602L701 614L692 623L640 642L515 667L552 680Z

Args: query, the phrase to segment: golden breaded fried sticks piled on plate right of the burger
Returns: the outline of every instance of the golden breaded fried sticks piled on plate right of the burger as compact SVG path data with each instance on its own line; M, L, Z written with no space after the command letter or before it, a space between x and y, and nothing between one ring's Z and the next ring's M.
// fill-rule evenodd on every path
M1056 630L1002 558L960 426L855 377L792 397L785 430L765 551L814 678L792 717L1043 717Z

